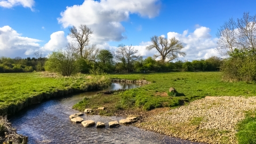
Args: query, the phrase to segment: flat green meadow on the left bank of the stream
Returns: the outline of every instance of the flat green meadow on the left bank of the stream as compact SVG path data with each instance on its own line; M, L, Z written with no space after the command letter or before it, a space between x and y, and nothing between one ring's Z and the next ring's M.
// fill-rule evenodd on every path
M38 103L45 99L44 97L50 98L51 94L58 96L70 91L99 89L108 86L110 82L110 79L104 76L92 77L83 74L71 77L51 73L0 74L0 111L12 109L33 98L33 102ZM38 95L41 95L40 100L35 98Z

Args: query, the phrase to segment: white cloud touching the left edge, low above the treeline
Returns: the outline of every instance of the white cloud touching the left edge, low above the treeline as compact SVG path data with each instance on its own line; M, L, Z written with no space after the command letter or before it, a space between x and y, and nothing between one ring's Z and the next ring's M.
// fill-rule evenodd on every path
M21 34L17 33L10 26L0 27L0 57L26 57L31 50L39 49L38 42L41 41L22 37Z

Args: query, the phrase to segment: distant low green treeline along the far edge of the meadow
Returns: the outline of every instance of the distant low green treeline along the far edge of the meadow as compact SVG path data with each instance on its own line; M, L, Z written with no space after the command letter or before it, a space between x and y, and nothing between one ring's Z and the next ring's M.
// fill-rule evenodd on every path
M111 57L113 58L113 57ZM47 58L26 58L20 57L0 58L0 73L28 73L33 71L44 71L44 64ZM104 62L96 59L92 62L79 62L79 72L89 73L92 68L99 68L105 73L154 73L154 72L171 72L171 71L219 71L222 59L211 57L209 59L193 61L175 61L165 62L154 60L151 57L139 59L132 62L129 67L123 62Z

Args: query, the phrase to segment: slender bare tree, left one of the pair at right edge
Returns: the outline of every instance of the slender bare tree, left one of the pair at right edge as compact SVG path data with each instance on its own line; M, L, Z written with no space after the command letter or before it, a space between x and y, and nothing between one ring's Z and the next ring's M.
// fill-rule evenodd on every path
M228 52L233 53L234 49L237 47L237 34L236 22L233 18L226 21L217 32L218 46L217 51L222 55L227 55Z

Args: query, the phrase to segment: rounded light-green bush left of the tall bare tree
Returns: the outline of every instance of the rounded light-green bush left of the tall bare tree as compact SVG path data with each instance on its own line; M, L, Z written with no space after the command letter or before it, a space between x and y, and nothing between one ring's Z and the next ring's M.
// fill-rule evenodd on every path
M62 76L70 76L78 71L78 55L74 44L68 44L65 51L52 52L45 63L45 69L60 73Z

